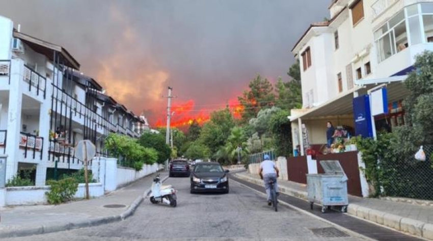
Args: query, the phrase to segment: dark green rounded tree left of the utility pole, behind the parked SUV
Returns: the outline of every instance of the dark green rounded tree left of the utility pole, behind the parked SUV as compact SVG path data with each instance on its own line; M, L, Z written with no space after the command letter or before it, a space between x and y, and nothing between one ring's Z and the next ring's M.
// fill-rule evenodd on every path
M156 150L158 163L164 163L171 156L171 148L166 144L165 136L156 133L145 132L139 139L140 145Z

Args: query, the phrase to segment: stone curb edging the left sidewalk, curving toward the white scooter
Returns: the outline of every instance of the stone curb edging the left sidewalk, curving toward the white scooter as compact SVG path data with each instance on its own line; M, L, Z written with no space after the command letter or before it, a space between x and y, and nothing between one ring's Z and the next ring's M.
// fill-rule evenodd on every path
M165 182L169 176L166 176L162 182ZM144 198L149 195L151 192L150 189L147 189L142 195L138 196L126 209L123 213L120 215L115 216L106 216L101 218L94 218L90 220L83 220L73 223L64 223L64 224L56 224L56 225L42 225L42 226L36 226L36 227L26 227L26 228L18 228L18 229L11 229L11 231L1 232L0 231L0 238L8 238L8 237L23 237L23 236L31 236L31 235L38 235L38 234L44 234L44 233L52 233L52 232L60 232L60 231L66 231L71 229L77 229L77 228L86 228L86 227L93 227L98 226L102 224L109 224L113 222L118 222L125 220L132 214L134 214L137 207L143 202Z

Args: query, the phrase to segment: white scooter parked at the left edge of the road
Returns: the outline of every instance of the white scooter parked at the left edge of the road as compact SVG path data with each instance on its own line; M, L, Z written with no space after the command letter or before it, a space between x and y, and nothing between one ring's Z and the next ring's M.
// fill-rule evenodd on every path
M157 174L155 178L153 178L150 202L153 204L165 203L175 207L177 205L176 193L177 190L174 189L172 185L162 186L159 174Z

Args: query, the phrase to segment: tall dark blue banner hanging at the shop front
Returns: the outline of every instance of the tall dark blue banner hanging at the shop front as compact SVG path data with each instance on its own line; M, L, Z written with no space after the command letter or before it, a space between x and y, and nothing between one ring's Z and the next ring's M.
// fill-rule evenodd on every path
M363 95L354 98L354 120L355 135L362 137L373 137L373 128L371 125L370 98Z

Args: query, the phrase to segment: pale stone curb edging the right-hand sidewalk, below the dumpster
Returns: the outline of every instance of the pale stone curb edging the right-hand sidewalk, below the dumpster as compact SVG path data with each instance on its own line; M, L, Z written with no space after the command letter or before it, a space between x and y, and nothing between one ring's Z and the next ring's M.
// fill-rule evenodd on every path
M240 173L236 173L235 176L246 180L247 182L262 185L262 181L258 178L252 178ZM289 196L298 197L304 200L308 199L307 192L281 186L279 187L279 190ZM388 214L375 209L350 203L347 206L347 214L384 225L401 232L410 233L415 236L433 240L433 224L430 223L425 223L410 218L403 218L397 215Z

